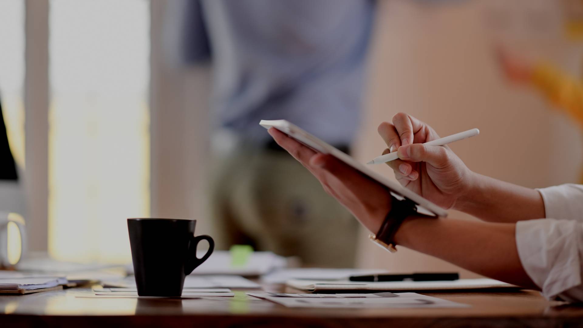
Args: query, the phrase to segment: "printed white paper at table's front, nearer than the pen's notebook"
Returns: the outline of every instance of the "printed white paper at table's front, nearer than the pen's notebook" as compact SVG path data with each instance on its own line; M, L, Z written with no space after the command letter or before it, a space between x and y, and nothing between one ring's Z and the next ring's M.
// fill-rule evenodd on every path
M265 296L288 308L467 308L469 305L417 293L398 293L399 297L310 298Z

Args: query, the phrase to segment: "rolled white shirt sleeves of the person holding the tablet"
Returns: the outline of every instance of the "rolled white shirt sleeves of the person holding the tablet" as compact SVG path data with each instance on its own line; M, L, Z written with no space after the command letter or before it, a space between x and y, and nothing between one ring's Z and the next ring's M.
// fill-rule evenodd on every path
M583 186L539 189L546 219L519 221L518 256L548 299L583 301Z

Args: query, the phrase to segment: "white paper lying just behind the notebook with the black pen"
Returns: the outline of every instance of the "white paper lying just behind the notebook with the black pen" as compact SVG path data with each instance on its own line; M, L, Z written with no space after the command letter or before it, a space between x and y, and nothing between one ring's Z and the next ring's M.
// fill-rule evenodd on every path
M383 274L387 270L351 268L282 268L261 277L268 284L285 284L290 279L346 280L351 275Z

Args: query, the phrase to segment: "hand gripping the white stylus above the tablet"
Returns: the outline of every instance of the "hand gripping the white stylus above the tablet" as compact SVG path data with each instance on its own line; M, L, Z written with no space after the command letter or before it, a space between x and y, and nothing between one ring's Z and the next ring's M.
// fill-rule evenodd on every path
M387 162L402 186L444 208L454 207L472 184L471 172L448 146L427 146L439 136L429 125L398 113L392 123L381 123L378 133L399 159Z

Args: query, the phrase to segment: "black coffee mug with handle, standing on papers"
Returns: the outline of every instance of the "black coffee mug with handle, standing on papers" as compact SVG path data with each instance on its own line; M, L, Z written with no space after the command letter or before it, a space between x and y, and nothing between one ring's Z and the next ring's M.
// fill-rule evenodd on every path
M182 295L184 278L215 249L215 241L210 236L194 236L195 226L196 220L128 219L138 295ZM201 240L209 242L209 250L199 259L196 245Z

